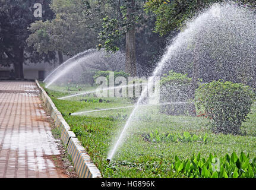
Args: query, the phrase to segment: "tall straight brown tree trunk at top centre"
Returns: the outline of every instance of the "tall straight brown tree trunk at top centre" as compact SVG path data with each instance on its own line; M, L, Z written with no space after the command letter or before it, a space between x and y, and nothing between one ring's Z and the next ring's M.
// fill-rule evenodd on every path
M127 9L127 16L131 23L131 28L126 33L126 60L125 72L131 76L137 75L136 54L135 54L135 24L134 24L135 0L131 0Z

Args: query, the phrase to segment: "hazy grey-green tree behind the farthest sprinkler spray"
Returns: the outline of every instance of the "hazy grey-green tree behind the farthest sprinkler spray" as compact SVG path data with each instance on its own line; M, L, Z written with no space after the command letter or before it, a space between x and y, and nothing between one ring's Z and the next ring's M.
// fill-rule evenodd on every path
M94 47L97 33L89 27L84 6L81 0L54 0L50 8L55 18L32 23L28 45L39 53L58 52L59 64L63 62L62 53L74 56Z

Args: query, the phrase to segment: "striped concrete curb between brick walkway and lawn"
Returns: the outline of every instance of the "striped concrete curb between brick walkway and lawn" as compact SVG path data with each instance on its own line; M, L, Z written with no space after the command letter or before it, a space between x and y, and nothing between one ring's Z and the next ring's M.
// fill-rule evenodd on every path
M91 161L89 154L87 154L84 147L75 137L74 132L71 131L69 125L62 117L61 112L58 111L46 91L40 87L37 80L36 85L40 90L43 102L50 112L50 117L53 119L55 126L61 131L61 140L67 146L68 154L72 158L75 171L79 178L102 178L99 169Z

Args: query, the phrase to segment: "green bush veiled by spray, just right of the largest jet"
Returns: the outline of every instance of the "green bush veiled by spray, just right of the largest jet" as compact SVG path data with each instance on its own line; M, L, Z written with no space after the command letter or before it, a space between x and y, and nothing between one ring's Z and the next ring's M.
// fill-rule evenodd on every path
M160 101L162 103L177 103L160 106L160 112L168 115L195 115L193 99L194 91L191 88L192 78L187 74L169 71L160 80Z

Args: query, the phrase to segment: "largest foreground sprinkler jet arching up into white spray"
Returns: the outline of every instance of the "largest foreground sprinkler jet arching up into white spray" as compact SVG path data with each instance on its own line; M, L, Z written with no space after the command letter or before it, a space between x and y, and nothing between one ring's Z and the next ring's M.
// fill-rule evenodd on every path
M236 76L233 77L236 78L235 82L255 81L255 23L255 14L247 8L231 3L214 4L188 21L187 26L167 46L148 83L153 83L155 77L171 69L191 76L195 65L198 68L197 77L206 82L215 77L229 80L233 76ZM248 76L251 78L248 79ZM137 115L146 93L143 90L119 137L113 142L108 154L109 160L113 159L124 143L127 129Z

